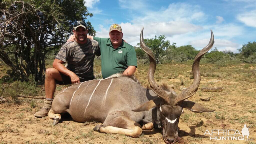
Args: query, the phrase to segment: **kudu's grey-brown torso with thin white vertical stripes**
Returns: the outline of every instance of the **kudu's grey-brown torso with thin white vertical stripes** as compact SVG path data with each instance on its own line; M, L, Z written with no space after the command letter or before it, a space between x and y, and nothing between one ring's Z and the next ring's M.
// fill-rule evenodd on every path
M152 111L133 112L156 94L143 88L132 78L114 78L85 81L56 95L52 102L54 113L68 112L78 122L104 122L110 112L125 111L135 122L152 121ZM61 102L61 104L59 104ZM60 107L64 106L64 107Z

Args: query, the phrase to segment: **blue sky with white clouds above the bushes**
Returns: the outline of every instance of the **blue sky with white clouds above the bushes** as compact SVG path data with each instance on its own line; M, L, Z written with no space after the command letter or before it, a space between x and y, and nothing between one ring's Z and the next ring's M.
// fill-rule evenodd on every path
M165 35L177 46L205 47L210 29L219 51L238 49L256 41L256 0L87 0L88 17L98 37L109 37L109 27L120 24L123 39L136 46L144 37Z

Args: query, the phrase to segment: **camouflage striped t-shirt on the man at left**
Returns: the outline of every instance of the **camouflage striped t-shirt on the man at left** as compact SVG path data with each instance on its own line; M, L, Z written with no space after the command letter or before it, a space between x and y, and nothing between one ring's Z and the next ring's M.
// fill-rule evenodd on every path
M87 38L86 44L76 41L62 45L56 59L68 64L67 69L73 71L80 78L94 78L93 60L95 55L100 56L100 47L97 41Z

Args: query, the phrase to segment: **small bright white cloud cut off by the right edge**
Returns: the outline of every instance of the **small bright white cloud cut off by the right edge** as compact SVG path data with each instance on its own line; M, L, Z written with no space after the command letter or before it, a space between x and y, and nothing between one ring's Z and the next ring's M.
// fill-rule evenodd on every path
M237 19L247 26L256 27L256 10L239 14Z

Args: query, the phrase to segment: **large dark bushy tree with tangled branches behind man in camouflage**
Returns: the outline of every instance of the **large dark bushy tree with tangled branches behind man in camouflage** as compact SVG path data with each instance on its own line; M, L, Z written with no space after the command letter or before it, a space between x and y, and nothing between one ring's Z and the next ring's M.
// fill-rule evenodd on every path
M4 0L0 15L0 58L12 76L33 74L37 81L44 79L46 54L66 42L74 22L93 16L83 0ZM89 21L87 26L95 35Z

